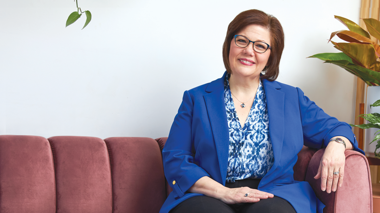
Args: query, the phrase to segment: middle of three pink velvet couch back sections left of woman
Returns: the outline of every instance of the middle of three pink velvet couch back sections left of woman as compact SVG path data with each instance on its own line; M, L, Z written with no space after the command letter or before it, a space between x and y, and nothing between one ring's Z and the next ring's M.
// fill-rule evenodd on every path
M108 150L100 138L48 138L54 157L57 213L111 213Z

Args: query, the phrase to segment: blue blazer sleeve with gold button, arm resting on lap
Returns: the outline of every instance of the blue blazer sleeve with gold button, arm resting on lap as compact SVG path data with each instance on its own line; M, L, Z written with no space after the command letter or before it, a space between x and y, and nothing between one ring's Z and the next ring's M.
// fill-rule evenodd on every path
M178 113L170 128L168 140L162 150L165 177L173 188L175 198L184 196L184 193L201 177L210 177L204 169L194 163L195 153L192 150L193 108L193 100L189 92L185 91Z

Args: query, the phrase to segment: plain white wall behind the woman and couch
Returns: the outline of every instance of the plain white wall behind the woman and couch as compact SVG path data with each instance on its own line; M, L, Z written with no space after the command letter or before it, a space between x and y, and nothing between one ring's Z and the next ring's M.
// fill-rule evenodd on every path
M222 76L228 23L247 9L283 25L277 80L353 122L354 76L306 57L338 52L327 43L331 32L345 29L334 15L358 22L360 0L78 4L93 16L83 30L85 16L65 28L76 11L72 0L0 1L0 134L167 136L183 92ZM149 43L137 44L136 36Z

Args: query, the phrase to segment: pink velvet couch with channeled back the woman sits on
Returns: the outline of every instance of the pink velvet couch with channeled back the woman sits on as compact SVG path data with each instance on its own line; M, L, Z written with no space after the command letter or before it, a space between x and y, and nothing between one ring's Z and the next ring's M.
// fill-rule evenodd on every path
M1 213L158 213L171 191L166 138L0 135ZM372 213L367 159L346 151L344 184L330 194L315 180L324 149L304 147L294 179L306 180L324 213Z

